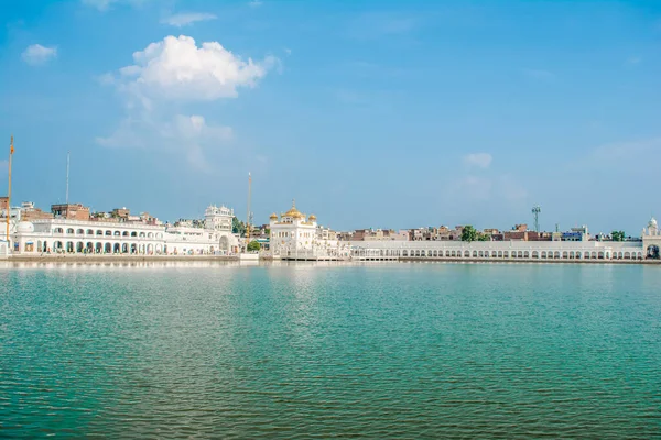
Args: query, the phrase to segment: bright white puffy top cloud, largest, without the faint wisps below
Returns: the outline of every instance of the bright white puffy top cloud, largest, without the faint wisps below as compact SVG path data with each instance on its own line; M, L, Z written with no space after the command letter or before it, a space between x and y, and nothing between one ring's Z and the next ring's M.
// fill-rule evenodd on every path
M119 70L119 82L147 106L154 98L203 101L235 98L237 88L254 87L279 63L272 56L262 62L243 61L218 42L197 47L195 40L185 35L171 35L150 44L133 54L133 62Z

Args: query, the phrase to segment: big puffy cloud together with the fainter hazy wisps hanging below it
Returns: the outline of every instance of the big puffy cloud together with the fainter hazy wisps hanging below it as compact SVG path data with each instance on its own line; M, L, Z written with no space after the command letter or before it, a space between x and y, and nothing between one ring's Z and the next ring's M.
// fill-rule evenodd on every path
M205 151L227 145L230 127L209 124L201 114L181 114L182 103L238 97L241 87L256 87L277 58L262 62L241 57L218 42L198 47L189 36L166 36L133 53L132 65L99 77L115 85L127 100L127 116L109 136L98 136L107 147L160 147L186 152L196 169L209 172Z

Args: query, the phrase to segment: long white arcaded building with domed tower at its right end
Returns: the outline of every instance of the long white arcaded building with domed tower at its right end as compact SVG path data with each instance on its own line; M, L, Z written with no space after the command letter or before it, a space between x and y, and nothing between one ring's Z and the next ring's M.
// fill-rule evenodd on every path
M11 253L228 255L238 251L231 210L207 209L204 228L61 218L21 221L11 228ZM229 217L229 220L228 220ZM229 228L227 223L229 221Z

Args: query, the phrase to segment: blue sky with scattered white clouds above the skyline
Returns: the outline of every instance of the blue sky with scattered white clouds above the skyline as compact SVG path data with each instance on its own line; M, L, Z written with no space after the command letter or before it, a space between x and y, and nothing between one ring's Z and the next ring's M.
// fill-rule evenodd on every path
M14 200L291 199L335 229L638 234L661 216L659 1L3 1ZM2 177L3 176L3 177ZM0 163L4 193L7 163Z

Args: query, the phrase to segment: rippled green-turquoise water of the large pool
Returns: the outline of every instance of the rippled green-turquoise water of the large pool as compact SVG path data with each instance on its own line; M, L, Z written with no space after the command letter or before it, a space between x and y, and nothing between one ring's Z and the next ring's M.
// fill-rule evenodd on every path
M0 437L661 436L661 267L0 267Z

